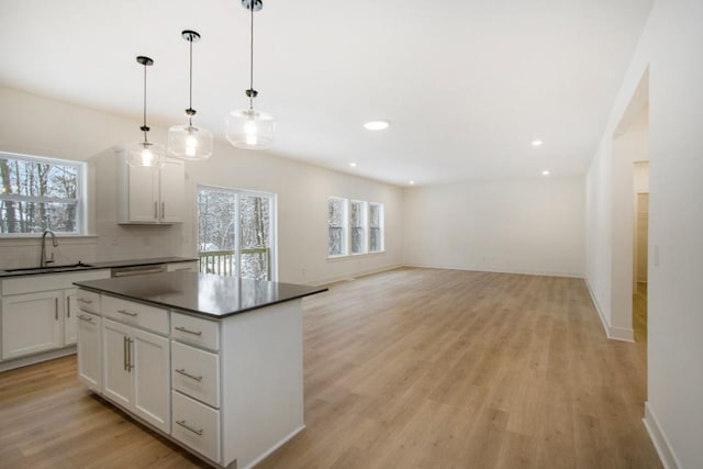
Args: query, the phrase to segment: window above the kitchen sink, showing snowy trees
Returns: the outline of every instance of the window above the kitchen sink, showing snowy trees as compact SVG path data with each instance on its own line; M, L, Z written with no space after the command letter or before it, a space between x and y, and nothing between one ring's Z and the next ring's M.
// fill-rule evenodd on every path
M0 234L85 234L83 163L0 153Z

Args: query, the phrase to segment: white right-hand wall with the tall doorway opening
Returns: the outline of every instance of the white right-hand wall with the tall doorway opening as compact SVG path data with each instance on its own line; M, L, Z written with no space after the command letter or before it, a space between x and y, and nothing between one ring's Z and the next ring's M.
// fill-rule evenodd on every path
M649 68L646 424L668 467L703 459L703 3L655 3L587 179L587 276L610 302L611 142Z

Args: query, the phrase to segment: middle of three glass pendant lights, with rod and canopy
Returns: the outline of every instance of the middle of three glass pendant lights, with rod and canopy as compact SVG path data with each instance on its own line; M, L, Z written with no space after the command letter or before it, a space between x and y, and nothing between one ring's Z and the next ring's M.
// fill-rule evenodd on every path
M190 104L186 110L188 123L174 125L168 130L168 155L190 161L202 161L212 156L212 134L193 125L193 43L200 41L200 34L186 30L181 36L190 43Z

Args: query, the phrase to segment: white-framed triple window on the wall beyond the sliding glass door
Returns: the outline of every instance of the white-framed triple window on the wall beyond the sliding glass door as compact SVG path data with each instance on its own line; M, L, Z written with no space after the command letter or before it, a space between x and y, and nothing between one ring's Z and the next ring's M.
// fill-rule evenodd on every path
M383 252L382 203L331 197L327 221L330 257Z

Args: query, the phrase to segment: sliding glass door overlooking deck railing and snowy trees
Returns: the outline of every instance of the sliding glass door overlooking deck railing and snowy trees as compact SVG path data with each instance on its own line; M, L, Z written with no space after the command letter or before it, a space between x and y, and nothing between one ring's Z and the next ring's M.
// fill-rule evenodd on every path
M198 188L200 271L276 280L276 196Z

